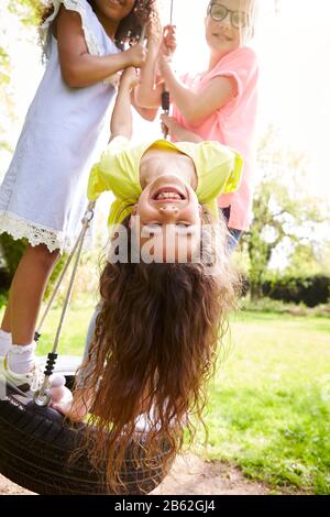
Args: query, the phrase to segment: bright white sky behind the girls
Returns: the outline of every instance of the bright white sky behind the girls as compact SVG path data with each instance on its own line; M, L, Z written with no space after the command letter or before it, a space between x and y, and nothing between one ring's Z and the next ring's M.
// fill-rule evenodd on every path
M26 43L20 24L12 16L3 15L7 1L2 3L0 23L2 37L6 31L13 63L11 86L19 119L8 129L10 141L14 144L41 78L42 67L35 42ZM163 21L168 23L170 0L161 0L160 3ZM208 48L204 40L207 3L208 0L174 0L178 40L175 64L178 73L197 72L207 64ZM275 122L285 143L310 156L316 191L329 194L330 1L282 0L277 18L273 0L261 0L261 7L254 43L261 66L260 132ZM135 121L139 138L156 132L157 128L157 124ZM3 157L0 167L3 172Z

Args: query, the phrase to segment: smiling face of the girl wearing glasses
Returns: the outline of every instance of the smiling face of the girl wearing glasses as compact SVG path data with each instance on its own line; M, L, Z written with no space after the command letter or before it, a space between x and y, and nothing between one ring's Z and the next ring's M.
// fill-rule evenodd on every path
M206 40L212 54L221 58L239 48L246 32L251 30L252 2L251 0L212 0L209 10L210 7L212 10L208 11L205 22Z

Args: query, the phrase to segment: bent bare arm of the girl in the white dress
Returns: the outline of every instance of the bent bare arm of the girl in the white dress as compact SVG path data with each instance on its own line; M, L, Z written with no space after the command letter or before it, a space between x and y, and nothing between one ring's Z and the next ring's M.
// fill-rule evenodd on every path
M113 55L90 55L80 15L64 7L56 19L54 32L58 43L62 75L72 88L94 85L128 66L140 67L145 61L146 51L140 43Z

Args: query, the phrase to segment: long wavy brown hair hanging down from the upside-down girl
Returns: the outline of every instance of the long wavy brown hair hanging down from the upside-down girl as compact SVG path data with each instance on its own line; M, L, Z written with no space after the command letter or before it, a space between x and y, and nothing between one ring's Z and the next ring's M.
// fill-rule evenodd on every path
M124 226L130 248L129 219ZM190 441L194 438L191 416L202 421L207 381L239 286L226 235L221 221L215 246L206 230L201 263L110 260L101 273L101 311L81 366L84 386L77 386L74 400L87 393L92 398L86 450L96 468L103 468L106 459L107 481L114 492L122 482L124 453L136 438L139 415L150 415L143 454L152 460L165 443L165 470L182 449L185 430ZM112 257L116 253L111 249Z

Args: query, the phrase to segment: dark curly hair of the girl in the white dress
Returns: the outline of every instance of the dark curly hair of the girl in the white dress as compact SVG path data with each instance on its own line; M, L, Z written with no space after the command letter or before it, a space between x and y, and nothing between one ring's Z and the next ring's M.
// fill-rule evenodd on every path
M94 9L94 1L87 0ZM41 23L43 23L54 11L52 4L41 8ZM114 43L122 51L125 43L133 45L139 42L142 28L151 20L155 13L155 0L135 0L132 11L121 20L116 36Z

